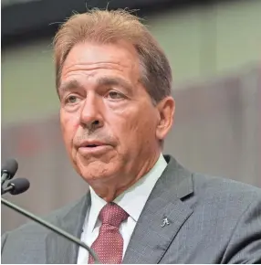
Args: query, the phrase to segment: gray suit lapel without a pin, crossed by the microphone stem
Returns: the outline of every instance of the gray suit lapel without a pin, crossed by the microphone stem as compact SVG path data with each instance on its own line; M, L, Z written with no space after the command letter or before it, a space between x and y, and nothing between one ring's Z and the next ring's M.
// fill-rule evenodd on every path
M90 204L89 193L69 209L68 213L57 220L57 226L69 234L80 238L83 222ZM47 263L49 264L75 264L78 258L78 246L67 238L62 238L54 232L47 236Z

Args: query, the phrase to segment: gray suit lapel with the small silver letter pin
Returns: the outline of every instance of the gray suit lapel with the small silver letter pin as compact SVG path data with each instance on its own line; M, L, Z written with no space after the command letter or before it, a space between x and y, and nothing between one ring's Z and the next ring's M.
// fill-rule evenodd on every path
M159 263L193 210L183 198L193 193L192 174L171 156L133 231L123 263Z

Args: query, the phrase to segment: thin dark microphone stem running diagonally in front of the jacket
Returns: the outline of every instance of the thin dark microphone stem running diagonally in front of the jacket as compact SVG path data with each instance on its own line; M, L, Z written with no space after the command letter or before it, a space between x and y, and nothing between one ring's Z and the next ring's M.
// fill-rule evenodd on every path
M25 209L21 208L21 207L17 207L15 204L5 200L4 198L1 197L1 204L4 204L6 207L12 208L13 210L15 210L16 212L30 218L33 221L36 221L37 223L41 224L42 226L54 231L55 233L59 234L60 236L62 236L63 238L67 238L70 241L78 244L80 247L82 247L83 249L87 249L89 251L89 254L92 256L94 262L96 264L99 264L99 259L96 255L96 253L90 249L86 244L84 244L82 241L80 241L78 238L70 235L68 232L57 228L56 226L53 226L52 224L46 222L45 220L41 219L40 217L35 216L34 214L26 211Z

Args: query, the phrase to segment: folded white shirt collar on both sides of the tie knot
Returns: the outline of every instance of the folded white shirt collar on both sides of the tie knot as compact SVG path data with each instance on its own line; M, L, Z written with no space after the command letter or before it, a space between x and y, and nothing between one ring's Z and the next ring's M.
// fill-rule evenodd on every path
M123 208L135 222L138 221L154 185L162 175L166 166L167 163L163 155L160 154L158 161L146 175L143 175L139 181L115 198L114 202ZM92 231L95 228L100 210L107 202L100 198L91 187L89 189L91 197L89 228Z

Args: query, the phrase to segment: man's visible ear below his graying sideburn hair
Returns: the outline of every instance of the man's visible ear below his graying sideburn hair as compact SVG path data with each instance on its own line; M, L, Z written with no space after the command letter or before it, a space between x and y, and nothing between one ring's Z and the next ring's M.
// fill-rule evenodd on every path
M175 101L169 96L158 103L157 109L159 111L160 119L156 129L156 137L162 141L166 138L168 132L171 131L174 113Z

